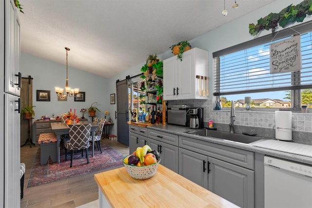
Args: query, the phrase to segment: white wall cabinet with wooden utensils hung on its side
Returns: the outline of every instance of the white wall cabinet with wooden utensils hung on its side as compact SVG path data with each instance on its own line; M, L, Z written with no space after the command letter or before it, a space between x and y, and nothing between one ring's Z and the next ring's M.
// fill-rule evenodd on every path
M183 53L182 62L177 56L163 61L163 99L187 100L207 99L206 95L199 95L201 90L207 91L207 81L196 76L208 77L208 52L193 48ZM205 85L203 85L205 83Z

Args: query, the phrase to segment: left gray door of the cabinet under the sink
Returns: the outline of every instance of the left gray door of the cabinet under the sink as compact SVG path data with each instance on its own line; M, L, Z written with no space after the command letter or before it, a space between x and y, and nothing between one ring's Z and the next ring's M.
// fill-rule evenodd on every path
M208 156L179 148L179 174L208 189Z

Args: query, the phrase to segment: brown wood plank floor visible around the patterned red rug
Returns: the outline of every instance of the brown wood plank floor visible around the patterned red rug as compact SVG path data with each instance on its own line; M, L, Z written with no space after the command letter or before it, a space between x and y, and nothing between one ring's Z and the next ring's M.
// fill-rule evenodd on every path
M124 156L129 154L129 147L118 143L117 140L103 139L101 143L111 146ZM29 145L20 147L20 162L26 165L21 208L75 208L98 199L98 185L93 178L95 173L26 188L38 148L30 148Z

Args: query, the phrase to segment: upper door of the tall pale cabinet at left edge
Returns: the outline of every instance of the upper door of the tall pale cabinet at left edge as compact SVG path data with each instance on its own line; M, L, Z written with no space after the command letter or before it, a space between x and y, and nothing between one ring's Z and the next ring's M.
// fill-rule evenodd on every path
M17 16L14 0L5 0L5 89L14 95L20 95L20 20Z

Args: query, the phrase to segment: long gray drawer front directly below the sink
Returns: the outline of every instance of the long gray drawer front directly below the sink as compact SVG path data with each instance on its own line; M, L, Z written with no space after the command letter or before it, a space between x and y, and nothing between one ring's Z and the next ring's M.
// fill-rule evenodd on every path
M254 152L180 136L179 147L254 170Z

